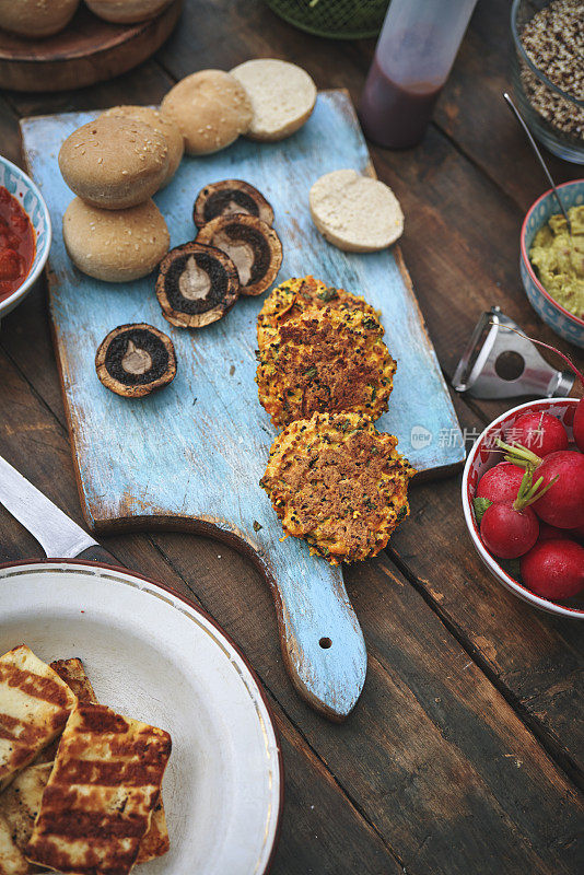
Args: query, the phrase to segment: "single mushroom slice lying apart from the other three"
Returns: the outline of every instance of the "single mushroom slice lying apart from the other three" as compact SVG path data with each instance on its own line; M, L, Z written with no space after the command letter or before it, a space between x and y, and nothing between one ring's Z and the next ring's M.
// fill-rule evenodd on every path
M97 376L106 388L126 398L142 398L176 376L173 341L147 323L109 331L95 355Z

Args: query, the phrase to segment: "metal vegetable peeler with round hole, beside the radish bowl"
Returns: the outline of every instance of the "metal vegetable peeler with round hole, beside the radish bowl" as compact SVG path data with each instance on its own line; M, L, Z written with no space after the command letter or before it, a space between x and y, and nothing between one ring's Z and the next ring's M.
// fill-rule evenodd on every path
M574 380L569 371L548 364L519 326L493 306L478 320L456 368L453 386L474 398L564 398Z

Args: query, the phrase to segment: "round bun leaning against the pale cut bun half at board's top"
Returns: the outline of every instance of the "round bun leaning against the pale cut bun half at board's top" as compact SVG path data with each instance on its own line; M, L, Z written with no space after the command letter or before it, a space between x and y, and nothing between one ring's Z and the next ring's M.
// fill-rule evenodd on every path
M231 145L252 122L247 92L224 70L200 70L182 79L164 97L161 110L178 125L191 155Z

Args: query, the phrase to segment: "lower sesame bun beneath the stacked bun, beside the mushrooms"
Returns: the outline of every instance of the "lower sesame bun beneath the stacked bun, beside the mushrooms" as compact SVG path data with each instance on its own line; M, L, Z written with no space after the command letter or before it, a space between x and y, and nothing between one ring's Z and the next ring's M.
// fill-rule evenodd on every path
M73 264L97 280L129 282L150 273L168 252L166 222L153 200L128 210L101 210L80 198L62 220Z

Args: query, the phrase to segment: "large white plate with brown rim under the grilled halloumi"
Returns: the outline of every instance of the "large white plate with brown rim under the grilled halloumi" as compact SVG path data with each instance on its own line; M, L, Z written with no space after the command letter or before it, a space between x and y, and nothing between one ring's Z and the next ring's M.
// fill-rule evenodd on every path
M101 702L167 730L171 851L144 875L262 875L281 809L281 758L234 644L159 584L91 563L0 568L0 653L79 656Z

